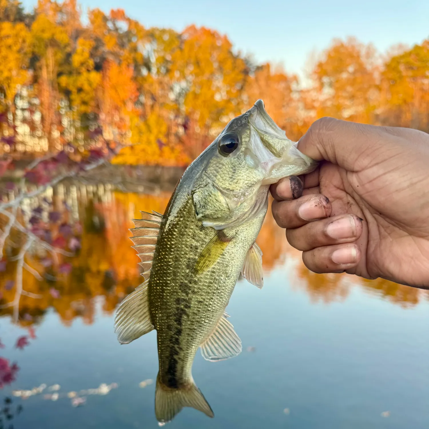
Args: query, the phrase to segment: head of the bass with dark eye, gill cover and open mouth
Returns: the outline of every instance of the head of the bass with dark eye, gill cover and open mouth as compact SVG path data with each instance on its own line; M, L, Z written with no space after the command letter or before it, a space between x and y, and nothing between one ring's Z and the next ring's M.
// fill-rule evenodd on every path
M204 162L191 190L196 218L216 230L237 226L266 207L270 184L317 166L269 117L262 100L230 121L200 157Z

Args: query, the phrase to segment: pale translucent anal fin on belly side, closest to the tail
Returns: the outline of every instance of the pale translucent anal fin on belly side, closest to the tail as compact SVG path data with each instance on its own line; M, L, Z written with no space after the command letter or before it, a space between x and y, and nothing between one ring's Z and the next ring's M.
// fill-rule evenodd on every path
M205 360L217 362L237 356L242 351L242 344L239 336L234 331L234 326L229 320L229 315L224 315L219 319L215 330L200 345L201 354Z

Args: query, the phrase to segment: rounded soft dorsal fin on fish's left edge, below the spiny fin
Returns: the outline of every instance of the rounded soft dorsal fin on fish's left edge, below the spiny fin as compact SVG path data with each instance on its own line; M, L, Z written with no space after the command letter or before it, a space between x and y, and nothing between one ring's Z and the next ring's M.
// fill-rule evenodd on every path
M142 283L119 305L115 333L121 344L128 344L154 329L149 313L148 282Z

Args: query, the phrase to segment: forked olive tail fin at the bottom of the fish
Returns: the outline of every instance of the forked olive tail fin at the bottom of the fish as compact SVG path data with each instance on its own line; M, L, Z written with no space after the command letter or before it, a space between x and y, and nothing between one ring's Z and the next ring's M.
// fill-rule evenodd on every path
M172 389L162 384L159 378L158 375L155 390L155 415L159 422L169 422L183 407L195 408L208 417L215 416L193 381L189 386Z

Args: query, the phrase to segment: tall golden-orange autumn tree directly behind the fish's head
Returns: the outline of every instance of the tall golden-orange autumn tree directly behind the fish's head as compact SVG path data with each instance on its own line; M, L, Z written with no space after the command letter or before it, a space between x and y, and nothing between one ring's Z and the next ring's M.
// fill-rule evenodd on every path
M227 36L187 27L172 54L170 77L185 118L185 142L193 159L234 116L242 113L248 68Z

